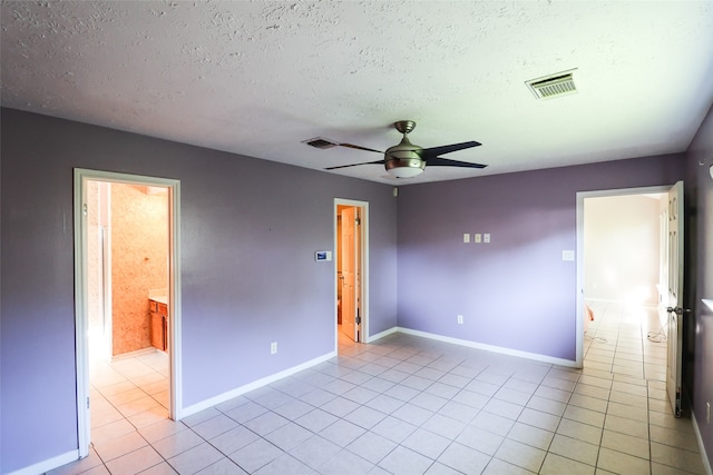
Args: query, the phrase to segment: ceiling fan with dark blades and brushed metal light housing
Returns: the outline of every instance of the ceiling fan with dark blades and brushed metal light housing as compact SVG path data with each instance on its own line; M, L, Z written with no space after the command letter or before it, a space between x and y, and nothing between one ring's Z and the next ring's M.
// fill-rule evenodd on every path
M450 154L451 151L463 150L471 147L478 147L481 144L477 141L468 141L462 144L451 144L440 147L422 148L411 144L408 133L416 128L413 120L400 120L393 127L401 133L403 138L399 145L389 147L387 151L374 150L372 148L361 147L352 144L336 144L340 147L353 148L356 150L373 151L383 154L383 159L374 161L364 161L362 164L341 165L329 167L325 170L336 170L339 168L358 167L360 165L383 164L387 172L394 178L412 178L421 175L429 167L461 167L461 168L485 168L487 165L471 164L469 161L450 160L441 158L440 155Z

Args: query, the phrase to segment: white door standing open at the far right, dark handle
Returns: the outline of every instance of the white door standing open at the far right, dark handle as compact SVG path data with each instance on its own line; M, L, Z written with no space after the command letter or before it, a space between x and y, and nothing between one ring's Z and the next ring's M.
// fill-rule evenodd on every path
M681 416L683 362L683 181L668 191L668 317L666 393L676 417Z

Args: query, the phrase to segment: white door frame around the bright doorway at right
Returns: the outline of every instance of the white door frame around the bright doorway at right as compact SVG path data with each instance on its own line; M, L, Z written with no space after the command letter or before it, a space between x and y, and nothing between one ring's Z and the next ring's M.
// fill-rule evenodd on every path
M619 188L597 191L577 192L577 308L575 311L576 325L576 362L575 367L582 368L584 364L584 200L585 198L602 198L627 195L667 194L671 186L655 186L642 188Z

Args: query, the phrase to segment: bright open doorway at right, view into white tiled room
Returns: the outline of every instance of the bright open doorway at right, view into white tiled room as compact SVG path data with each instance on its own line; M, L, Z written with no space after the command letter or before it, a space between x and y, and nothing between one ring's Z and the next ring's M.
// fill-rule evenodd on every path
M665 382L661 215L666 194L584 199L584 366Z

